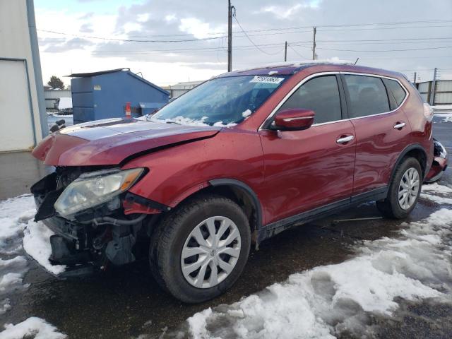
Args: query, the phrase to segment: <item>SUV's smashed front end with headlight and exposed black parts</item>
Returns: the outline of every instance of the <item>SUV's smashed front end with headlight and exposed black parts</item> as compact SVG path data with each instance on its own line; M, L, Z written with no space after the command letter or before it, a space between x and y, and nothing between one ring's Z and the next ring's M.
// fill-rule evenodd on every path
M160 203L128 192L146 169L57 167L31 187L37 213L55 234L50 238L54 265L72 270L135 261L134 246L145 237L150 214L167 210ZM133 212L141 213L133 213Z

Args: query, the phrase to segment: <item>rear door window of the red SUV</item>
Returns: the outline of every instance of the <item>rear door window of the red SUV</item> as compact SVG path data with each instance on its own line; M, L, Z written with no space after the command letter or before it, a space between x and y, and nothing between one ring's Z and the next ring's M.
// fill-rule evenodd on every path
M389 112L388 94L381 78L374 76L344 76L350 102L350 118Z

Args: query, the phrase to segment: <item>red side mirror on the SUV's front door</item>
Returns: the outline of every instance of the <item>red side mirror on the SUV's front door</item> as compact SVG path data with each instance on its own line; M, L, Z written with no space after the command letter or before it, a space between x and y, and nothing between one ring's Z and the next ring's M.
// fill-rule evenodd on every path
M314 124L315 113L311 109L284 109L275 117L275 129L280 131L302 131Z

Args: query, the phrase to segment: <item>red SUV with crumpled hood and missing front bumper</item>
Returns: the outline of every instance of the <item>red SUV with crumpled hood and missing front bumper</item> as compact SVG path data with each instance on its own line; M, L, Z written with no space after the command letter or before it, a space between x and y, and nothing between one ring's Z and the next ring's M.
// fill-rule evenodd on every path
M417 203L434 155L432 111L400 73L285 64L225 73L146 119L51 134L33 155L55 172L32 186L56 233L52 263L136 260L184 302L225 292L251 244L376 201Z

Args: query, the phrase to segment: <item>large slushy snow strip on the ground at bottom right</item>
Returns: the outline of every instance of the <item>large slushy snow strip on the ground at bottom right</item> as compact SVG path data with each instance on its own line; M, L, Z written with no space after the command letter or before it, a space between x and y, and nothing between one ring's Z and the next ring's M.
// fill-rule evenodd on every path
M396 238L364 242L348 261L195 314L189 331L194 338L334 338L349 331L360 337L370 331L369 314L391 315L398 297L449 300L452 210L403 227Z

